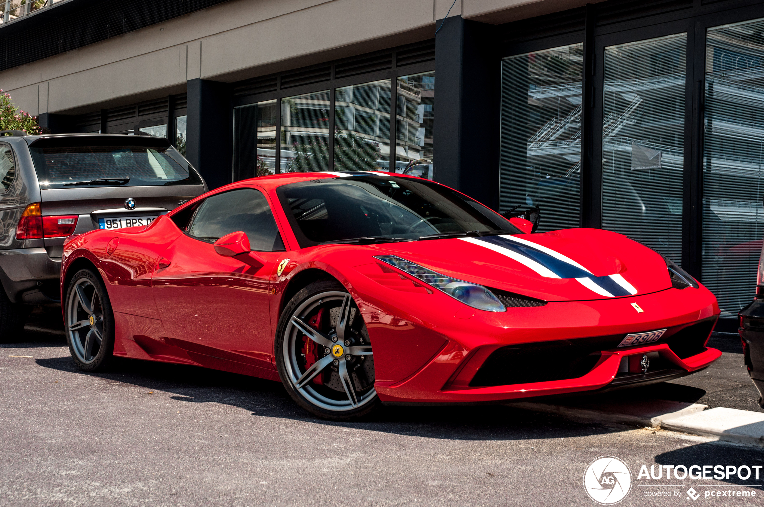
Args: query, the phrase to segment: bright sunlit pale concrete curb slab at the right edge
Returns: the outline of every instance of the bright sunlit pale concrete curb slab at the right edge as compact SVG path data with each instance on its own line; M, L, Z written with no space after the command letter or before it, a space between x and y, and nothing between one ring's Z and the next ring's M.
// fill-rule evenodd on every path
M764 414L761 412L717 407L674 418L661 427L740 444L764 445Z

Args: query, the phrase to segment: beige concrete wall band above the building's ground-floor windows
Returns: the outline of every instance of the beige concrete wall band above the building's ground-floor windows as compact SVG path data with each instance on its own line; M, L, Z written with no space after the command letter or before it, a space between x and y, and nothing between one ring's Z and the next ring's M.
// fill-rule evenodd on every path
M449 16L503 22L517 8L550 2L575 0L456 0ZM79 114L183 92L188 79L232 82L425 40L451 5L452 0L231 0L5 70L0 88L33 115Z

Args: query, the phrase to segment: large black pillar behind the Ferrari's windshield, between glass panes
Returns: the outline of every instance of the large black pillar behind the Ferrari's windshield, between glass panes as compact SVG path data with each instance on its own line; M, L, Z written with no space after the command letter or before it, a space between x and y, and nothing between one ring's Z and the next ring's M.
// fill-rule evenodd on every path
M461 16L447 18L435 35L435 179L494 209L499 206L496 47L494 25Z

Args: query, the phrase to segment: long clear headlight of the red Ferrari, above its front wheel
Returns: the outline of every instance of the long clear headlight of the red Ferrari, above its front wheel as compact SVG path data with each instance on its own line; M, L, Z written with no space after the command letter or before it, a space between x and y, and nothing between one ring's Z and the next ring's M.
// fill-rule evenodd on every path
M445 292L452 298L458 299L472 308L478 308L478 310L485 310L486 312L507 312L507 308L504 308L504 305L501 304L494 293L484 286L435 273L435 271L428 270L426 267L419 266L419 264L411 263L394 255L379 255L374 258L388 263L390 266L397 267L404 273L422 280L422 282Z

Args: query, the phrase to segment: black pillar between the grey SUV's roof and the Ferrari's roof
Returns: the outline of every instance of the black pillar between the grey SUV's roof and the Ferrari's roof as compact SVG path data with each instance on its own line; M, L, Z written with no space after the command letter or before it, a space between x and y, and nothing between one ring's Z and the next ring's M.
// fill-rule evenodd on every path
M210 190L231 182L233 105L231 86L208 79L187 83L186 158Z

